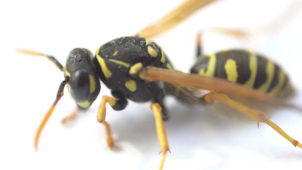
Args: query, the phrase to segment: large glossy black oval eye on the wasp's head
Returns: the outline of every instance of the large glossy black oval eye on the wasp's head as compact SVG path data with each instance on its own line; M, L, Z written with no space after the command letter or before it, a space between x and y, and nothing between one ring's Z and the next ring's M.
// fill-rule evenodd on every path
M89 95L89 74L78 70L69 79L70 93L76 102L87 100Z

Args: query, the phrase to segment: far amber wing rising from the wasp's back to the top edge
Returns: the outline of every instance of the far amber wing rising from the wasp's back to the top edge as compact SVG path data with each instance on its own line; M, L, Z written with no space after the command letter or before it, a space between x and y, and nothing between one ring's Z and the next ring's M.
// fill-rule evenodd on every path
M151 25L142 29L137 36L144 38L156 36L173 26L176 26L201 7L204 7L214 1L215 0L186 0Z

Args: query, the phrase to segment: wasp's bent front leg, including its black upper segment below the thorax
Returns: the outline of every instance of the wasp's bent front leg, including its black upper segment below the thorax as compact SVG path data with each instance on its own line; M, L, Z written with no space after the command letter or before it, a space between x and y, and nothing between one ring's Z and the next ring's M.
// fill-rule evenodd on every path
M112 91L112 94L113 94L113 96L122 97L122 95L119 92ZM126 107L128 102L125 97L123 97L123 98L119 98L119 97L117 97L117 99L115 99L108 95L103 96L103 99L102 99L99 109L97 111L97 121L99 123L102 123L105 126L106 135L107 135L107 144L110 149L114 148L114 140L111 135L110 125L105 121L106 103L109 103L110 106L114 110L123 110Z

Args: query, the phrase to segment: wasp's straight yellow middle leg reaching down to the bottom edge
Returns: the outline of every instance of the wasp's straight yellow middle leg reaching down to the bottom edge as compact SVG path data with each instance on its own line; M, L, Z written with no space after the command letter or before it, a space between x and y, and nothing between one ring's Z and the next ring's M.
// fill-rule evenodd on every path
M162 159L159 166L159 170L162 170L164 161L166 159L167 151L169 151L169 146L168 146L166 132L162 122L161 106L158 103L152 103L151 110L153 111L154 114L157 137L162 153Z

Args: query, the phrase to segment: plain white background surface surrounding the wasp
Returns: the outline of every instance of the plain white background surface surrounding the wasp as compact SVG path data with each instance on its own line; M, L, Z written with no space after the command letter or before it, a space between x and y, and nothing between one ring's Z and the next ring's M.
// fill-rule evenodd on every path
M0 2L1 111L0 169L156 170L161 156L150 103L130 102L120 112L107 108L118 145L106 148L98 103L110 91L102 85L89 111L70 127L61 125L75 104L65 95L47 123L34 151L33 138L53 103L63 74L48 60L24 56L14 48L52 54L64 65L69 51L92 52L105 42L140 29L182 0L10 0ZM244 47L261 52L284 67L297 87L292 103L302 105L302 2L300 0L222 0L200 10L171 31L154 38L177 70L194 63L195 35L216 26L243 28L250 39L234 40L206 33L206 52ZM67 94L67 93L66 93ZM165 122L171 154L165 170L301 170L302 150L293 147L265 124L225 119L210 111L183 106L167 98L171 119ZM301 112L275 110L272 120L302 141Z

